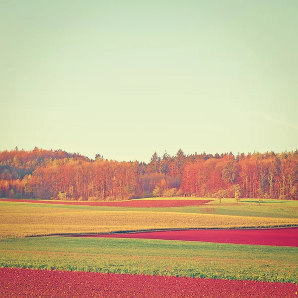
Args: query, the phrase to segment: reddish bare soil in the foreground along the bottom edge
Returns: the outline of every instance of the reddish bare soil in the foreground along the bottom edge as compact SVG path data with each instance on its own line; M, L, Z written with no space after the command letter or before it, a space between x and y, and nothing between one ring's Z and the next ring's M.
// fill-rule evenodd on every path
M297 284L0 268L1 298L290 298Z

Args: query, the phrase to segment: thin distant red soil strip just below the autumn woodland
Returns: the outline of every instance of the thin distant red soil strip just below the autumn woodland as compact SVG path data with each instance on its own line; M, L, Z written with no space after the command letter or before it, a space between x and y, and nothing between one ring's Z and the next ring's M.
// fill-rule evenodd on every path
M42 203L42 204L61 204L61 205L87 205L87 206L109 206L109 207L187 207L200 206L211 202L212 200L130 200L130 201L38 201L38 200L19 200L19 199L0 199L4 202L19 202L19 203Z

